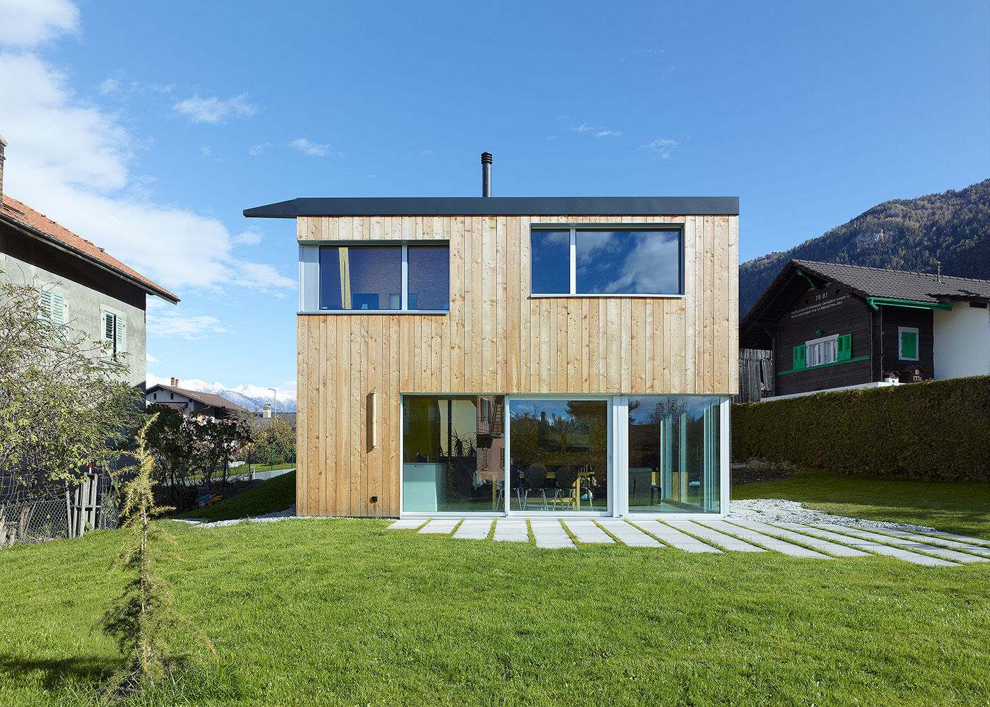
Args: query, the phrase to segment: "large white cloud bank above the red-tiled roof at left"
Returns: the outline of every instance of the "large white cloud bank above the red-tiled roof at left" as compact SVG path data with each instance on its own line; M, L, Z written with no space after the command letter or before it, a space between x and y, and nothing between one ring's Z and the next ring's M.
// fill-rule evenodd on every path
M271 265L238 258L239 244L218 219L154 203L153 179L130 172L148 141L136 140L118 115L79 100L37 55L0 53L0 104L10 144L5 193L173 291L233 282L295 287Z

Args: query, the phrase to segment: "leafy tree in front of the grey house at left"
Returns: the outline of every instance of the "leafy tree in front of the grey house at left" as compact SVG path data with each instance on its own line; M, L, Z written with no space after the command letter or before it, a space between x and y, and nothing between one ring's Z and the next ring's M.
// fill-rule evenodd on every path
M29 488L77 483L116 459L137 426L128 366L71 323L49 319L43 290L0 282L0 468Z

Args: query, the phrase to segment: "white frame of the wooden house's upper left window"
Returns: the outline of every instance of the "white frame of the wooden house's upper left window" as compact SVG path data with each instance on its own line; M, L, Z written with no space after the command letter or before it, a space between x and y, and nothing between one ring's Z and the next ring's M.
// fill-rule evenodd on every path
M447 252L447 308L409 308L409 247L440 246ZM328 248L400 248L402 258L402 284L399 309L320 309L320 249ZM298 314L449 314L449 241L313 241L299 244L299 312Z

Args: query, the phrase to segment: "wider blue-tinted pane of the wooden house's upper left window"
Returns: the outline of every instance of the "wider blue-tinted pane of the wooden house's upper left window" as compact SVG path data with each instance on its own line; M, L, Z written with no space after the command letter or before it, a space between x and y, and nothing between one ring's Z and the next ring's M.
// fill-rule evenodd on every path
M400 309L402 247L320 249L320 309Z

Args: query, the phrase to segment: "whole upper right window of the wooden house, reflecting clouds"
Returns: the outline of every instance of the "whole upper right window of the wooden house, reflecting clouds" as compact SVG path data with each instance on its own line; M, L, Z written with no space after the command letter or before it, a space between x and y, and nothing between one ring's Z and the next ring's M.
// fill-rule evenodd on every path
M683 236L658 226L534 228L535 295L678 295L684 293Z

